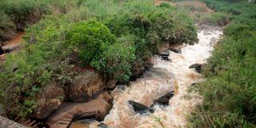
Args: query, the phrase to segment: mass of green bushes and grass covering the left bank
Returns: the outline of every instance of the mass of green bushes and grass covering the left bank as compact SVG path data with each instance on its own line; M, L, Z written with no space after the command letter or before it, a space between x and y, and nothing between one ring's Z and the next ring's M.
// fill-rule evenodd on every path
M8 54L0 69L0 112L10 119L34 118L36 94L52 82L70 85L76 66L127 82L162 42L198 42L185 12L151 0L4 0L0 6L2 41L26 30L22 50Z

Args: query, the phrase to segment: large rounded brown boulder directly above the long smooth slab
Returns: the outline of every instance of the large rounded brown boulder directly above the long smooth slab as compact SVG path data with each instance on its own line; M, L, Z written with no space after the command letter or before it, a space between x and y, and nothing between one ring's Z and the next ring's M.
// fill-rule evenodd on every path
M102 76L95 70L83 70L70 86L68 97L71 102L89 102L97 98L104 89Z

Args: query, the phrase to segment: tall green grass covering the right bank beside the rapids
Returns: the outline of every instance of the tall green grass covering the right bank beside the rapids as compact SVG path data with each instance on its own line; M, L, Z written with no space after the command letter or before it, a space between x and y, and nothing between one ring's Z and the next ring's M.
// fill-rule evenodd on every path
M189 127L256 127L256 5L204 0L231 23L204 69L206 82L193 87L204 97ZM239 10L239 13L238 13Z

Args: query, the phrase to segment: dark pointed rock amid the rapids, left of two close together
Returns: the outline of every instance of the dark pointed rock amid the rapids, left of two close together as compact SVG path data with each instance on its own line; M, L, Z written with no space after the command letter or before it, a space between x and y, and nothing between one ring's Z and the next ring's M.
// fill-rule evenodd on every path
M128 101L128 103L130 104L130 106L133 107L134 112L138 113L138 114L145 114L148 111L150 111L150 108L142 105L141 103L138 102L134 102L134 101ZM151 113L153 113L154 111L150 111Z

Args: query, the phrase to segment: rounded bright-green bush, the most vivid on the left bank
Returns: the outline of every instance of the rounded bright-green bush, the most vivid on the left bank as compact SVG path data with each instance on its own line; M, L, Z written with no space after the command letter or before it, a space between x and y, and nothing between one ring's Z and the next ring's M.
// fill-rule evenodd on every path
M78 52L84 64L100 59L100 55L115 42L114 35L101 22L78 22L66 34L66 45Z

